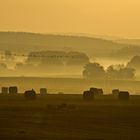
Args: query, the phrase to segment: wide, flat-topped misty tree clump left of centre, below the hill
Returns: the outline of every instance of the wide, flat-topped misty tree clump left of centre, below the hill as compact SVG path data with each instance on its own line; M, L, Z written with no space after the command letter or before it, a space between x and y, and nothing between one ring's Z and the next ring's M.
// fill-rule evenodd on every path
M31 52L26 61L29 64L39 64L39 66L71 66L89 63L89 57L81 52L64 51L41 51Z

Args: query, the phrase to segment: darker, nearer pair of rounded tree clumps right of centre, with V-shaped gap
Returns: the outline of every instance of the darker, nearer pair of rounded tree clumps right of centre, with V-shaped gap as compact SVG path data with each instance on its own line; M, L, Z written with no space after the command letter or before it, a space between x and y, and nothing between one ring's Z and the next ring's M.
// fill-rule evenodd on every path
M99 63L88 63L83 70L83 77L87 79L132 80L135 69L124 65L110 65L106 70Z

